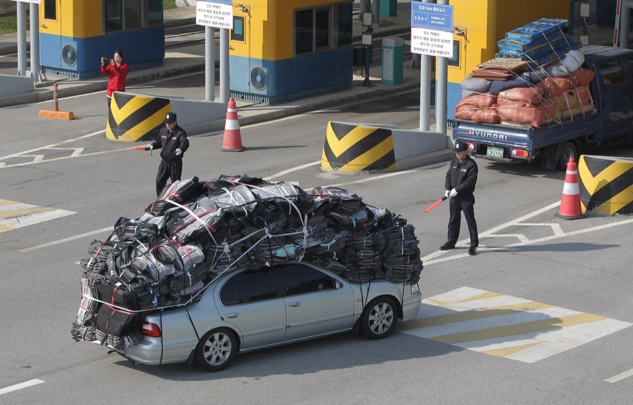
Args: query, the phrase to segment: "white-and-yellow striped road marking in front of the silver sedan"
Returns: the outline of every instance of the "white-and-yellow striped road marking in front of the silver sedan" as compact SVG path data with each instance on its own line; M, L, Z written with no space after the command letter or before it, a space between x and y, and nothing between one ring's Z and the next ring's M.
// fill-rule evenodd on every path
M461 287L422 300L399 332L534 363L632 323L492 291Z

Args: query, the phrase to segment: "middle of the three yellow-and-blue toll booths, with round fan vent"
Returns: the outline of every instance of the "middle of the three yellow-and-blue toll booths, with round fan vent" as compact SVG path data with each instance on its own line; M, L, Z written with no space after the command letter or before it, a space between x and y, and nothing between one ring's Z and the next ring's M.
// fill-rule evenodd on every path
M231 97L279 104L352 82L351 0L234 3Z

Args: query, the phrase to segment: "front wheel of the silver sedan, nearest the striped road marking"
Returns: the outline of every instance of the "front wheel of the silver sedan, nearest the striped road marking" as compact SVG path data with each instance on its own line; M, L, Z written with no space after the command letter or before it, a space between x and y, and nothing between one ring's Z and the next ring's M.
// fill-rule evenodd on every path
M360 316L359 331L367 339L384 339L391 335L398 323L398 306L389 297L372 299Z

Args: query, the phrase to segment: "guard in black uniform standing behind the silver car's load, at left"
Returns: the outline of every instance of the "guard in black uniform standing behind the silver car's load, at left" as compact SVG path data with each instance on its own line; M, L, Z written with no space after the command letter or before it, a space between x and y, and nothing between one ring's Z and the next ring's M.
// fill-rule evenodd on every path
M160 157L162 158L160 166L158 166L158 174L156 175L156 195L160 195L167 179L174 181L180 180L182 174L182 156L189 148L189 140L187 140L187 132L178 126L175 112L165 114L165 127L161 128L158 133L158 139L155 140L147 150L162 149Z

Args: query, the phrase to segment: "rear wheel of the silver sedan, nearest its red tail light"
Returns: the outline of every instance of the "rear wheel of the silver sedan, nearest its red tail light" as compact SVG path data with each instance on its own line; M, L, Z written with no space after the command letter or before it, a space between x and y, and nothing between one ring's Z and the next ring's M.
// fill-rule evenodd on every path
M227 328L206 332L196 346L197 365L207 372L219 372L227 368L237 353L237 337Z

